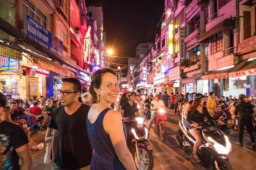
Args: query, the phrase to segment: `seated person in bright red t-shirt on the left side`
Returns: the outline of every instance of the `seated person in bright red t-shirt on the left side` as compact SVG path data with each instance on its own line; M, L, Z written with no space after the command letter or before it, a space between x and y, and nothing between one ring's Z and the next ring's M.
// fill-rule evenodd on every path
M46 125L46 121L47 121L48 115L47 115L40 107L38 107L38 102L37 102L37 101L34 101L34 102L33 102L33 107L30 107L28 111L29 111L30 113L32 113L32 114L38 116L38 120L39 120L40 122L42 121L42 123L41 123L41 129L42 129L42 130L45 130L45 128L46 128L45 125ZM42 116L39 116L40 113L42 114ZM31 123L33 122L32 117L30 118L30 121L31 121ZM36 120L36 122L38 122L38 121Z

